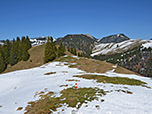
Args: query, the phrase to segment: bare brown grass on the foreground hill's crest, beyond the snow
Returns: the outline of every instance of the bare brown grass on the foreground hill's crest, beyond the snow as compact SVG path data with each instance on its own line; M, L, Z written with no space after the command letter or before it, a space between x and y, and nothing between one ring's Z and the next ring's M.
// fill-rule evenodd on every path
M99 60L93 60L93 59L88 59L81 57L80 59L73 58L71 56L68 57L61 57L57 61L63 61L63 62L68 62L68 63L76 63L72 64L69 67L71 68L78 68L86 72L90 73L105 73L109 70L113 69L113 64L107 63L104 61L99 61Z

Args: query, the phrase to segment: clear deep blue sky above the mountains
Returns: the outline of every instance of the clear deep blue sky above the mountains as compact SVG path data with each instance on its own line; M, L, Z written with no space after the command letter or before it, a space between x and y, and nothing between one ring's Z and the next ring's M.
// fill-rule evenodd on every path
M0 40L89 33L152 38L152 0L0 0Z

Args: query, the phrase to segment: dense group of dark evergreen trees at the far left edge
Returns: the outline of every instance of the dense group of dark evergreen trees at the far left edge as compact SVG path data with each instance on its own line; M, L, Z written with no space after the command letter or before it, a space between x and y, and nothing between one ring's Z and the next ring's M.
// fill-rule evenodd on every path
M4 41L3 45L0 45L0 72L3 72L7 65L11 66L17 64L19 61L27 61L29 59L28 50L31 48L31 42L29 37L22 37L21 39L8 39Z

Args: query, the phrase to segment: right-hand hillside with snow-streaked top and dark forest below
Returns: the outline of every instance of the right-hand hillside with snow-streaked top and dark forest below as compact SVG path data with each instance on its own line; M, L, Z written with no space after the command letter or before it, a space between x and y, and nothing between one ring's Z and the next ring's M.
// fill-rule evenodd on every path
M94 59L118 64L143 76L152 77L151 40L127 40L115 44L100 44L91 56Z

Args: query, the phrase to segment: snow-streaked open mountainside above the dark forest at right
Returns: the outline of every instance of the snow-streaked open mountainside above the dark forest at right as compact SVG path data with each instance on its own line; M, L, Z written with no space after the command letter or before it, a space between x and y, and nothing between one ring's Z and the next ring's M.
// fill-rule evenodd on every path
M91 56L122 53L140 45L152 47L152 40L126 40L120 43L100 43L93 48Z

